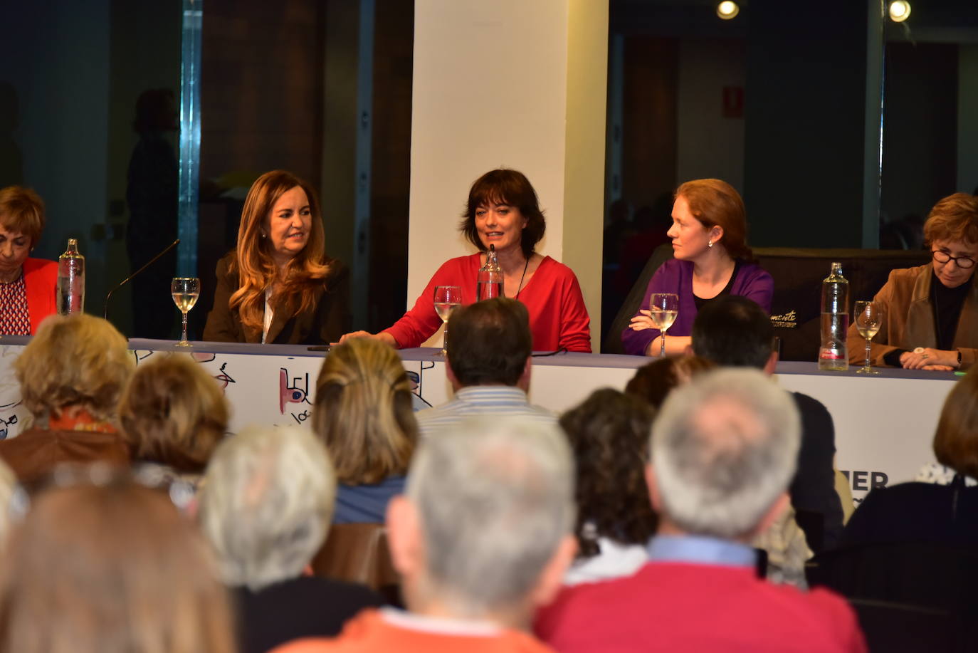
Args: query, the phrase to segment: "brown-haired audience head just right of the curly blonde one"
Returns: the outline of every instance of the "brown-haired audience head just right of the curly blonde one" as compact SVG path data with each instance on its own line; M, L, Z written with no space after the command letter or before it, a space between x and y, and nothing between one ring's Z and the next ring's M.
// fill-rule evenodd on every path
M199 474L228 427L224 394L190 356L141 364L119 403L119 424L134 460Z

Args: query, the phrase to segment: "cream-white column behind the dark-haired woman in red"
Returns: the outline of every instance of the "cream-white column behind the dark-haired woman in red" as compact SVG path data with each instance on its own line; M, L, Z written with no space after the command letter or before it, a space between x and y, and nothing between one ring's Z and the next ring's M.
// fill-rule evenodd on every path
M547 217L538 252L581 282L598 350L607 12L607 0L416 0L408 305L474 251L458 231L472 181L511 167Z

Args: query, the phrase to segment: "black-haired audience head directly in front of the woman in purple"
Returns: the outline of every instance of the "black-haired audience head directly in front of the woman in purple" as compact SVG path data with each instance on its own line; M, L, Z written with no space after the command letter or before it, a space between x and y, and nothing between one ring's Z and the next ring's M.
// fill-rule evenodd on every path
M707 303L692 323L692 350L724 367L773 372L775 328L764 308L745 297L725 295Z

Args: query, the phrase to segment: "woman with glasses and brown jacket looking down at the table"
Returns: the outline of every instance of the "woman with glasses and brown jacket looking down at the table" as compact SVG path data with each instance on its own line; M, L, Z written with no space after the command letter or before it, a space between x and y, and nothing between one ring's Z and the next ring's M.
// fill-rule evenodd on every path
M933 260L890 272L873 298L883 308L871 341L872 364L908 369L969 367L978 355L978 197L955 193L923 225ZM862 363L866 341L849 327L850 362Z

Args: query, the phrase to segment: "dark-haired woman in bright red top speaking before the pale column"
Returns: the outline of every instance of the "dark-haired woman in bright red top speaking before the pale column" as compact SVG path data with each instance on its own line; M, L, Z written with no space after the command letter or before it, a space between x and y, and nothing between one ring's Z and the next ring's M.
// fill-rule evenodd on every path
M393 326L378 334L349 333L340 342L369 336L397 348L420 347L442 324L434 310L435 287L459 286L463 305L475 302L478 269L492 245L503 268L503 294L529 310L533 349L591 351L591 318L577 277L566 265L534 251L546 221L523 173L497 169L476 179L460 228L479 252L445 261L415 306Z

